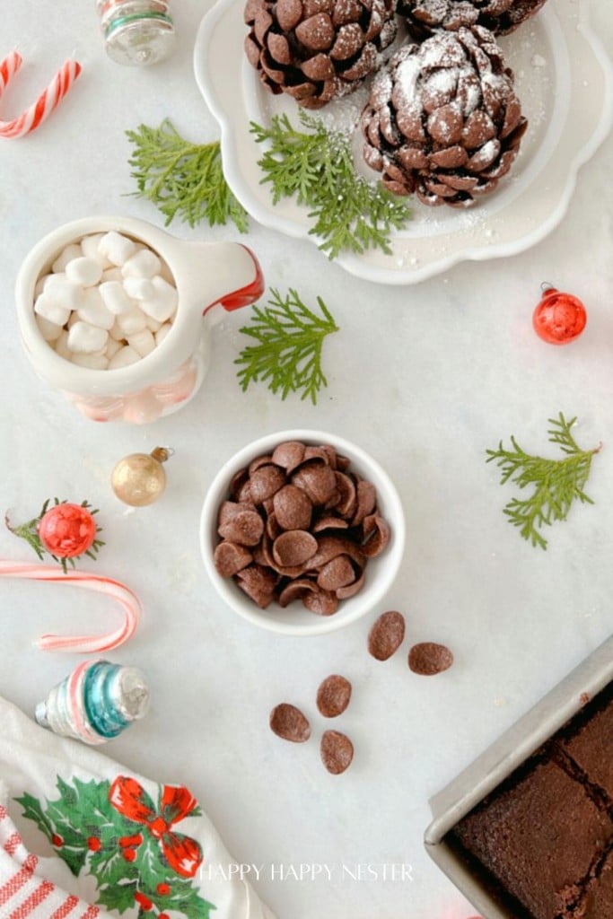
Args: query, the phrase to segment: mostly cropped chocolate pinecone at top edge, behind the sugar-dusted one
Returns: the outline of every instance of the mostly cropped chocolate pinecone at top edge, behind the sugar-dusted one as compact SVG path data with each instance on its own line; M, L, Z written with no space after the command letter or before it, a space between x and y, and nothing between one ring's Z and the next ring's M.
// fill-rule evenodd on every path
M456 32L461 26L484 26L505 35L539 12L545 0L398 0L414 40L422 41L437 28Z

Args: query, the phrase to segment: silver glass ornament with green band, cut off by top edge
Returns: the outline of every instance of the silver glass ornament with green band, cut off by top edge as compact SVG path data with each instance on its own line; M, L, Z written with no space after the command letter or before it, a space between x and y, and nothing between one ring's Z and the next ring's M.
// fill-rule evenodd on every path
M167 0L96 0L108 56L143 66L163 61L175 47Z

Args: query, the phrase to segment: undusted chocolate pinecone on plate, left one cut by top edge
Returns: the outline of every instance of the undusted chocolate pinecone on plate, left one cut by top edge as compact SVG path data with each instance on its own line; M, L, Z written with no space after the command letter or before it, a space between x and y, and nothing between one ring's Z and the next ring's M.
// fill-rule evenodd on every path
M270 92L321 108L356 89L396 37L395 0L247 0L244 48Z

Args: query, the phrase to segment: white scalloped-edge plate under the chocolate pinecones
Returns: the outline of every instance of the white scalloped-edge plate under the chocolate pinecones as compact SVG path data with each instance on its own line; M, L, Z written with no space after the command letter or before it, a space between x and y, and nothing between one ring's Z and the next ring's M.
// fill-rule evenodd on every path
M289 199L273 205L269 187L261 184L262 148L250 121L267 125L273 114L287 112L299 126L299 109L288 96L268 93L247 62L243 9L244 0L218 0L200 24L194 50L196 81L221 125L224 173L256 221L317 244L306 209ZM350 274L413 284L460 261L516 255L562 220L579 167L613 123L611 63L589 27L585 0L549 0L500 43L529 122L512 173L470 210L428 208L415 199L413 220L392 235L391 255L372 250L337 257ZM346 129L358 118L366 93L364 87L316 114ZM355 141L359 151L358 136ZM358 153L362 168L359 160Z

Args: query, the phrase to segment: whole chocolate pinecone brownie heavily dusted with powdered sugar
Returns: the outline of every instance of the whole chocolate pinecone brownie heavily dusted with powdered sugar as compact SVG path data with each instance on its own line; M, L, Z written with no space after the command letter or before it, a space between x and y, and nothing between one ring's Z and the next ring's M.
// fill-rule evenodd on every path
M481 26L403 45L360 117L364 159L385 187L464 208L494 191L527 126L513 72Z

